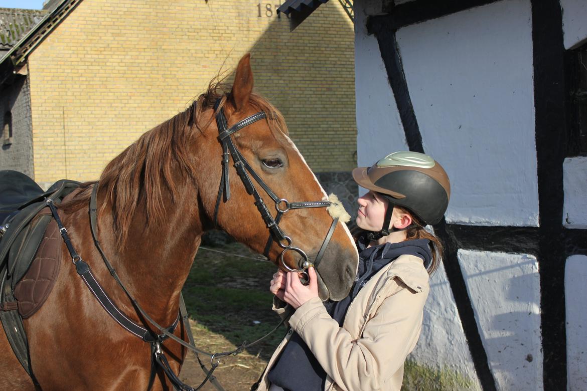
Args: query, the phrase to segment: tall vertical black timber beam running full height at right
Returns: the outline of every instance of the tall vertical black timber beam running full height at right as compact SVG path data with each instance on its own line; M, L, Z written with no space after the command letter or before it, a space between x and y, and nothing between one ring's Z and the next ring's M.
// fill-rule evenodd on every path
M534 107L538 163L541 328L544 390L566 389L565 230L563 164L566 157L565 49L559 0L532 0Z

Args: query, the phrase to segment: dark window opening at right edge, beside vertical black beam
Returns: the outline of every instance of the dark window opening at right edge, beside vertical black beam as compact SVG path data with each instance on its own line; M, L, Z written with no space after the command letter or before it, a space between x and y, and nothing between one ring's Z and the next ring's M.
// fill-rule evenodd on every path
M587 155L587 44L568 52L569 127L566 155Z

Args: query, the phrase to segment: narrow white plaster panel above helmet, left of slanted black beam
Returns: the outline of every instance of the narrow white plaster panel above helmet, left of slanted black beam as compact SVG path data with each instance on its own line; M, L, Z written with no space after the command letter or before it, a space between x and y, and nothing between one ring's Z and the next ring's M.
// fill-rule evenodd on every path
M367 35L365 25L367 15L380 12L380 0L355 2L355 91L359 166L371 166L391 152L407 150L402 121L387 80L377 39Z

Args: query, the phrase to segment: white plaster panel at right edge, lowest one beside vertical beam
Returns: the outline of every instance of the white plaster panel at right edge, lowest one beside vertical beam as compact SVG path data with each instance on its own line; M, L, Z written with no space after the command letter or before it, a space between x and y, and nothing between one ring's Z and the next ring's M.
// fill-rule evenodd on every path
M587 256L573 255L565 264L566 371L569 391L587 390Z

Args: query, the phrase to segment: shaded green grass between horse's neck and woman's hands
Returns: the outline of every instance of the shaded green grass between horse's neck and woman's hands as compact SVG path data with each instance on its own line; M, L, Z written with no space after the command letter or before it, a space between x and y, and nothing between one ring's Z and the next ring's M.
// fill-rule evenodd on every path
M239 243L229 243L221 250L255 257ZM190 318L198 322L198 327L221 334L234 345L255 341L280 320L271 310L273 295L269 292L276 268L271 263L200 249L183 288ZM282 326L249 353L270 354L284 334Z

